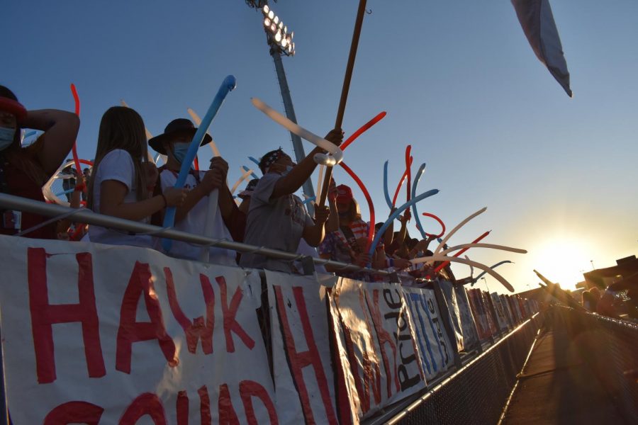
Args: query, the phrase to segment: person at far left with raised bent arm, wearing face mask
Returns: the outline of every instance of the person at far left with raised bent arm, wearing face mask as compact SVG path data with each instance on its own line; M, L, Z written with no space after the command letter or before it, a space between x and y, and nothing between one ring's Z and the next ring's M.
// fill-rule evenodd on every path
M22 147L23 128L42 130L44 134L32 145ZM78 130L79 118L74 113L27 111L11 90L0 86L0 192L44 202L42 186L69 154ZM30 212L0 210L0 214L0 234L16 234L48 220ZM25 236L56 239L55 223Z

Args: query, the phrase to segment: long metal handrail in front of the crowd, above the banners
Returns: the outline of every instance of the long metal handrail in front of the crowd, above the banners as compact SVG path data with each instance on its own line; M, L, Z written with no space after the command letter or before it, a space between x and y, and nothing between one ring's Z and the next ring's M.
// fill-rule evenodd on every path
M342 263L340 261L332 261L328 259L318 259L296 253L279 251L277 249L270 249L264 246L254 246L223 239L213 239L189 232L181 232L180 230L175 230L170 227L164 228L155 225L147 225L142 222L135 222L131 220L125 220L123 218L111 217L110 215L99 214L86 208L77 208L75 210L76 212L69 214L69 211L71 209L62 205L48 204L40 202L38 200L22 198L21 196L9 195L7 193L0 193L0 209L3 208L8 210L32 212L35 214L45 215L47 217L57 217L61 215L65 215L65 217L68 217L69 215L72 215L74 217L74 220L87 223L89 225L121 229L134 233L154 234L158 237L174 239L181 242L189 242L191 244L202 246L218 246L222 249L250 252L252 254L260 254L275 259L299 261L303 258L310 258L315 264L322 266L339 267L340 271L362 271L364 273L375 273L384 276L393 275L393 272L386 270L363 268L355 266L354 264Z

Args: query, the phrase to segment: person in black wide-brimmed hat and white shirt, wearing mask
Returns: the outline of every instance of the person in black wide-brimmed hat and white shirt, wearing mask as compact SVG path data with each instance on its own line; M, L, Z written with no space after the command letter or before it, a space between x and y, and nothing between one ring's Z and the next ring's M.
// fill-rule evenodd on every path
M164 134L148 141L150 147L167 156L167 163L159 167L159 184L156 191L160 193L175 186L181 163L184 162L191 140L197 129L190 120L178 118L172 120L164 130ZM210 143L211 136L206 134L201 146ZM183 232L201 234L207 220L213 220L213 238L233 240L226 225L237 212L237 205L226 186L228 164L220 157L211 159L208 171L190 169L184 188L189 189L184 203L177 208L174 228ZM216 211L208 211L208 196L218 190ZM230 227L230 225L229 225ZM171 251L167 253L184 259L200 259L201 246L186 242L174 241ZM209 249L211 263L236 265L235 251L216 248Z

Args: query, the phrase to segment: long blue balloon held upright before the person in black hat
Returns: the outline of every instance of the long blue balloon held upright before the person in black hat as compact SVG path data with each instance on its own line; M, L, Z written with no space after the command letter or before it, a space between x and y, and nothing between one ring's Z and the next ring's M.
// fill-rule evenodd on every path
M203 140L204 135L208 131L208 128L211 126L213 122L213 118L217 115L219 108L224 103L224 99L228 93L235 89L237 86L237 80L233 75L229 75L222 82L219 90L215 98L213 99L213 103L206 111L206 115L203 120L201 120L201 124L197 128L195 135L193 136L193 140L191 141L191 145L189 145L189 150L186 152L186 156L184 160L181 162L181 168L179 169L179 174L177 175L177 181L175 182L176 188L183 188L184 183L186 183L186 176L189 175L189 171L191 169L191 164L195 159L197 154L197 150L199 149L199 145L201 145L201 141ZM169 207L166 209L166 215L164 215L164 227L172 227L175 222L175 207ZM171 246L173 245L173 241L171 239L162 239L162 247L164 251L170 251Z

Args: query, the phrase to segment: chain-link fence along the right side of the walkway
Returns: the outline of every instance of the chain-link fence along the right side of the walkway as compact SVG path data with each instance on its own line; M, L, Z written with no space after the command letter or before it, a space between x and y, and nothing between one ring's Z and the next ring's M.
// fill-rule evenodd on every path
M569 307L554 308L548 319L566 330L617 412L638 424L638 324Z

